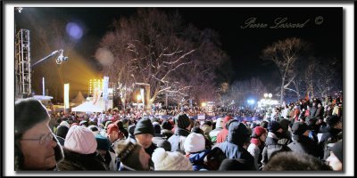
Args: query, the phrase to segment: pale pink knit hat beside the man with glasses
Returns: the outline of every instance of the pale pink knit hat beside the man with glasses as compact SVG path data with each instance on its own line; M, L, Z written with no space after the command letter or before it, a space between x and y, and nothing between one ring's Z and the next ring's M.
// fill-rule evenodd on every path
M92 154L96 150L95 134L87 127L72 125L64 140L64 148L81 154Z

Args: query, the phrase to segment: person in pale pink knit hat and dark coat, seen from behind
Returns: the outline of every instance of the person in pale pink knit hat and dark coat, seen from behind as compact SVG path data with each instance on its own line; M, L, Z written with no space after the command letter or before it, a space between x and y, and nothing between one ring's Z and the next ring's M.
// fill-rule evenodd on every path
M64 141L64 160L58 164L60 171L96 170L107 167L96 157L95 135L87 127L73 125Z

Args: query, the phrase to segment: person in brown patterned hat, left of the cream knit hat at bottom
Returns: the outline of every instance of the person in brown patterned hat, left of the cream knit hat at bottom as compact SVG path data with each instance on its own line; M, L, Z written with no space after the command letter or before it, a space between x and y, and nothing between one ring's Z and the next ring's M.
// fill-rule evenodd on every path
M138 144L127 140L121 140L114 146L117 158L120 161L120 171L150 171L154 170L150 166L150 155Z

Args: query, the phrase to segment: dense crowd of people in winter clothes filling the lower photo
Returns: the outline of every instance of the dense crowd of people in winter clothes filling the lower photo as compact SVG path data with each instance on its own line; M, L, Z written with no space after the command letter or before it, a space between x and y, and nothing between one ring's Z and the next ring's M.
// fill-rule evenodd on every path
M343 171L342 97L205 120L169 112L50 115L40 101L17 101L15 170ZM237 119L247 115L261 117Z

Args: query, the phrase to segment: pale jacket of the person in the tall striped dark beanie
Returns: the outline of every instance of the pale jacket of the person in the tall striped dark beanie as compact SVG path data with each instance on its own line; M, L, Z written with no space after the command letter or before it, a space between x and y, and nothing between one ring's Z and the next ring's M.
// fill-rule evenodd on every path
M190 132L186 129L175 127L175 134L168 140L171 144L171 151L179 151L185 155L184 142L188 134L190 134Z

